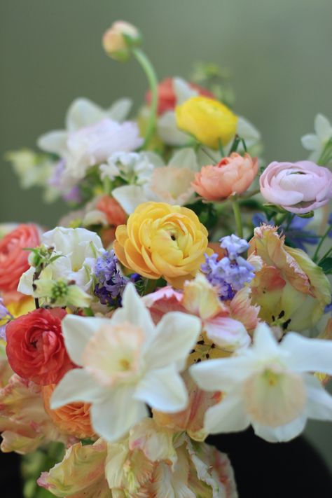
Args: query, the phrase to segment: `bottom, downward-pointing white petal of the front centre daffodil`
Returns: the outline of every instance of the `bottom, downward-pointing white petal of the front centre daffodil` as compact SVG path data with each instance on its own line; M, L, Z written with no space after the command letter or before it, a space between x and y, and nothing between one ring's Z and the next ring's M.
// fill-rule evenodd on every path
M109 392L102 403L92 404L92 427L106 441L117 441L132 426L148 416L144 403L135 401L132 396L133 388L123 386Z

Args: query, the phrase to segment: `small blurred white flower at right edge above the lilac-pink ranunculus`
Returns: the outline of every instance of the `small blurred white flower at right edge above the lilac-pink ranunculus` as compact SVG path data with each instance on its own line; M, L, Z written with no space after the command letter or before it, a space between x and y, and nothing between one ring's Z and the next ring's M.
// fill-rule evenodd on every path
M306 148L307 151L312 151L309 159L317 162L317 160L319 160L319 158L321 157L324 149L326 148L328 141L331 141L332 148L332 125L329 122L328 118L326 118L326 116L324 116L323 114L317 114L317 116L314 118L314 131L315 133L304 135L304 137L301 138L301 142L303 147Z

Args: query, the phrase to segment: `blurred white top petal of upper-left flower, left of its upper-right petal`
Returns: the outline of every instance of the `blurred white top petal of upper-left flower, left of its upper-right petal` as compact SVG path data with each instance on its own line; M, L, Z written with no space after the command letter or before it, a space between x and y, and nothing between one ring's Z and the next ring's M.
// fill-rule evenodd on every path
M74 100L69 106L66 125L69 132L74 132L85 126L93 125L106 118L106 111L89 99Z

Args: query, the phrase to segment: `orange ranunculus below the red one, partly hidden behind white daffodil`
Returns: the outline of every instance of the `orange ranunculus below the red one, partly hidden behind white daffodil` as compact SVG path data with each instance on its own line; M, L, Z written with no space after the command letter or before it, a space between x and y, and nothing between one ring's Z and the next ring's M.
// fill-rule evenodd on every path
M71 434L79 439L91 438L95 431L91 427L90 403L68 403L56 410L50 408L50 396L55 384L42 387L43 402L46 413L61 432Z

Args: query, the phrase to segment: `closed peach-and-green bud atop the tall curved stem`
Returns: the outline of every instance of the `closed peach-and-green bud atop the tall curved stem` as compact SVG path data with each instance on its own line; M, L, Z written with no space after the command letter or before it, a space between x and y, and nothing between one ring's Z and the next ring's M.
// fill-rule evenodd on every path
M119 62L126 62L130 57L130 48L140 43L141 34L137 27L125 21L113 22L102 39L106 54Z

